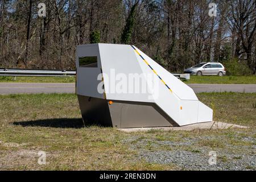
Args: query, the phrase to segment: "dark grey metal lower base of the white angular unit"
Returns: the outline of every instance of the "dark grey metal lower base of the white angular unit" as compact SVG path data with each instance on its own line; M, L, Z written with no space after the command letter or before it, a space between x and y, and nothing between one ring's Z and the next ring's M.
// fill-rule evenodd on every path
M80 96L82 118L90 124L117 128L164 127L177 124L156 104L147 102L113 101Z

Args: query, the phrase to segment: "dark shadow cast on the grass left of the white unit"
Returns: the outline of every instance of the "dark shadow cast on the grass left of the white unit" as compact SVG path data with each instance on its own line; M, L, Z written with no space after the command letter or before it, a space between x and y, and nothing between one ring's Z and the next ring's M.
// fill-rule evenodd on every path
M13 122L13 125L23 127L39 126L39 127L55 127L55 128L73 128L80 129L82 127L100 126L98 123L83 122L82 118L55 118L55 119L41 119L36 121L19 121ZM100 126L102 127L102 126Z

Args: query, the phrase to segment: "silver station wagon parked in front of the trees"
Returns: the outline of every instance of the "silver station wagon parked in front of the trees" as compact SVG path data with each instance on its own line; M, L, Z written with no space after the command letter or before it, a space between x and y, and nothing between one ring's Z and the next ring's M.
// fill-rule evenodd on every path
M210 63L200 63L191 68L185 69L184 73L189 73L191 75L226 75L226 69L221 63L210 62Z

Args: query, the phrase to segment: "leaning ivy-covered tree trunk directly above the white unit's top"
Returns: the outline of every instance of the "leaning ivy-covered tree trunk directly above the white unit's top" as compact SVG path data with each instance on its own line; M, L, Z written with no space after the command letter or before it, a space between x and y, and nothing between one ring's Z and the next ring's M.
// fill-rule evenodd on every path
M130 44L131 42L131 36L133 35L133 28L135 23L135 10L137 5L138 5L138 1L133 5L133 7L131 7L130 14L126 20L125 28L123 29L123 32L121 35L122 44Z

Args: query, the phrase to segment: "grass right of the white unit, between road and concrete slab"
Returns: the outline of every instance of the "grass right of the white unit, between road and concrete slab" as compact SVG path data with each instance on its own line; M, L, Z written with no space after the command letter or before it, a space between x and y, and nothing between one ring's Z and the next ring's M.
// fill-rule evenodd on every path
M216 121L256 126L255 93L200 93L198 96L213 108Z

